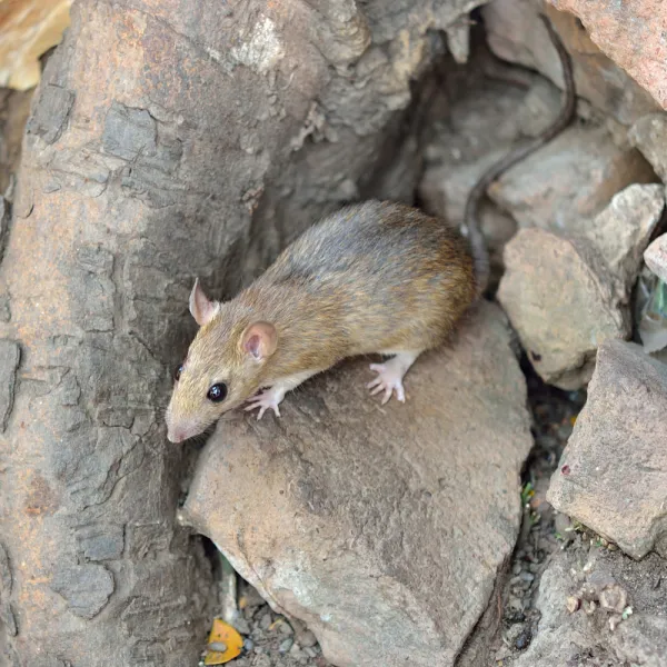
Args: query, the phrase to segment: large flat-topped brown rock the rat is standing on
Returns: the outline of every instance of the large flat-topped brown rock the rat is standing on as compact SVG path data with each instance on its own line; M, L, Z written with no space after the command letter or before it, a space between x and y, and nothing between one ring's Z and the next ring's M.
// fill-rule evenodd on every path
M417 361L407 404L380 408L368 378L351 360L280 420L220 421L182 514L335 665L449 666L518 532L524 377L484 303Z

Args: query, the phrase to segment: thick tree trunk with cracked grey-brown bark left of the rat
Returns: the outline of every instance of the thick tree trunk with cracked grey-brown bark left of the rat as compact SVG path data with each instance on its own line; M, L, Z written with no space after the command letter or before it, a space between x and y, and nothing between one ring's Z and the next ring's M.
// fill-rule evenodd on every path
M9 665L195 664L210 574L161 418L193 277L225 297L381 189L435 31L479 3L74 3L0 268Z

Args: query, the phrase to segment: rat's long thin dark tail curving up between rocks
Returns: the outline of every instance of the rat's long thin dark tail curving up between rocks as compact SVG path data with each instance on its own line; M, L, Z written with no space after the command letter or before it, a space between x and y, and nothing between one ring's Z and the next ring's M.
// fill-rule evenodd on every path
M489 253L486 248L484 235L479 228L479 203L482 197L486 195L487 188L507 169L516 165L519 160L528 157L531 152L541 148L545 143L548 143L556 135L560 133L573 120L576 110L577 93L575 90L575 79L573 76L573 66L560 38L554 27L545 17L540 14L540 19L544 21L549 32L549 38L558 57L560 58L560 67L563 68L563 78L565 81L565 102L560 110L560 113L544 132L535 137L524 146L519 146L515 150L510 151L499 162L492 165L487 169L480 177L470 193L468 195L468 201L466 202L466 212L464 215L464 221L468 229L468 238L470 248L472 250L472 257L475 258L475 268L477 275L477 293L479 297L486 291L489 280Z

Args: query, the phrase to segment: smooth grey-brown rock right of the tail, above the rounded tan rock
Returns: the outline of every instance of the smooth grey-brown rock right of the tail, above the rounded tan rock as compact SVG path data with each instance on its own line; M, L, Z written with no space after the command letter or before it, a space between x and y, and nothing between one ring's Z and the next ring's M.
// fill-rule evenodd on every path
M509 169L488 192L519 227L581 232L616 192L655 180L639 151L615 146L604 127L574 126Z

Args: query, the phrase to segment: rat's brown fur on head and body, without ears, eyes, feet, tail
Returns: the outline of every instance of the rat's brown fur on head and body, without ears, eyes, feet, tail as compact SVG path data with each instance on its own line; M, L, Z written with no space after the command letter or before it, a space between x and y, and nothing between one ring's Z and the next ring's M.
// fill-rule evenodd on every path
M454 227L402 205L350 206L307 230L219 306L190 346L168 415L203 430L281 378L356 355L434 348L476 291L474 259ZM278 336L262 364L239 345L259 320ZM220 381L228 398L212 404L207 391Z

